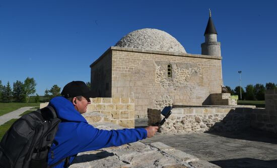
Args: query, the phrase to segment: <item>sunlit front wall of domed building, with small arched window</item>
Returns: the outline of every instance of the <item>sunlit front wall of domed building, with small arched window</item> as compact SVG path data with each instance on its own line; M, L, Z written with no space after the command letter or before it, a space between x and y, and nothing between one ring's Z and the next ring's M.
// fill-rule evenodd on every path
M221 93L222 57L121 47L108 51L111 96L134 98L136 117L146 118L148 108L202 105L210 93ZM167 76L169 64L172 77Z

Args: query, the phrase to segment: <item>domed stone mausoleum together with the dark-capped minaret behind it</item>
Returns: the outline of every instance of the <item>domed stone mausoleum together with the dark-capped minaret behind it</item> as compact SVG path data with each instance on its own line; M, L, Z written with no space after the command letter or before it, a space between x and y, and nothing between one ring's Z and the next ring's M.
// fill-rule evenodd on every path
M201 54L188 54L168 33L133 31L105 51L91 67L95 97L130 98L136 118L168 105L231 105L222 94L222 57L210 16Z

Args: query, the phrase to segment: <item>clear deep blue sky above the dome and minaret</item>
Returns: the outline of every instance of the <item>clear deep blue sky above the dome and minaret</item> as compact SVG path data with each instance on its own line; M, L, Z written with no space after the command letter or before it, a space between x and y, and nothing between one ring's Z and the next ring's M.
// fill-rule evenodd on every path
M1 1L0 80L90 81L90 64L123 36L154 28L201 54L209 8L221 42L224 84L277 83L276 1Z

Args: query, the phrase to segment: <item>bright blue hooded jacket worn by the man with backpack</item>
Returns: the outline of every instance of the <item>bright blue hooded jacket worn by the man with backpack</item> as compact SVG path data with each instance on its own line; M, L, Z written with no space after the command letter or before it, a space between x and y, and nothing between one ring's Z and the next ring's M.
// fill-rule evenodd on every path
M64 97L54 97L49 105L54 107L62 121L48 153L48 165L79 152L97 150L103 147L120 146L147 137L144 128L100 130L88 124L87 120ZM54 167L63 167L64 161Z

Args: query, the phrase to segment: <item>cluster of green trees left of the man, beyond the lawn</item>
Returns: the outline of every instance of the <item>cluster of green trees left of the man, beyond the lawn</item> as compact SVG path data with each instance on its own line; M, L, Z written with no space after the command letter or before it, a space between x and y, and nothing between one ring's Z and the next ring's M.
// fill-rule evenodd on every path
M30 95L36 92L36 81L34 78L27 77L24 82L16 81L11 88L10 82L7 85L2 85L0 80L0 102L9 103L13 100L15 102L29 102ZM38 96L38 95L37 95Z

